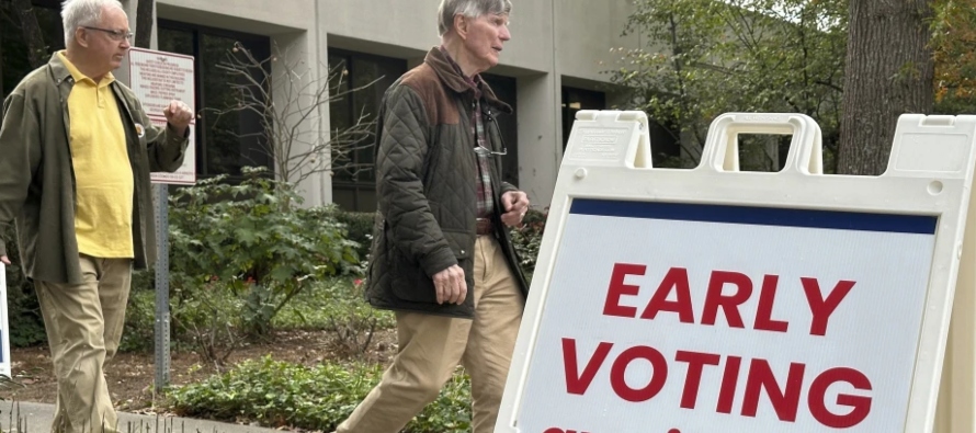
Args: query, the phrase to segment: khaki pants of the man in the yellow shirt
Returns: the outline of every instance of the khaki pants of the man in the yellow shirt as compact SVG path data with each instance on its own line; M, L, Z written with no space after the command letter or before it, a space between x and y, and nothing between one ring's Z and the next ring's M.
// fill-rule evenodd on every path
M52 432L116 432L103 366L118 350L132 283L130 259L79 258L82 284L35 282L58 399Z

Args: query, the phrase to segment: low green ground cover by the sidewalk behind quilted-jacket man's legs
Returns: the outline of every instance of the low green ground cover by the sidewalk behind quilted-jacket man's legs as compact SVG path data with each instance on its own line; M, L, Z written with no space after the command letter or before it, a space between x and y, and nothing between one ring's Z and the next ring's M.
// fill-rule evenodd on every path
M180 415L252 420L266 426L330 432L375 386L379 365L276 362L271 356L245 361L223 375L174 388L171 407ZM409 433L470 431L470 383L458 375L438 399L404 430Z

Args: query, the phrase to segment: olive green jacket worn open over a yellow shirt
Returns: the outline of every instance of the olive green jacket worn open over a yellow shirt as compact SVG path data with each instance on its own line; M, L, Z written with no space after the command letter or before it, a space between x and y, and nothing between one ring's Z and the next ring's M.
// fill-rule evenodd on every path
M60 284L81 283L75 236L75 169L68 141L68 95L73 86L71 73L55 53L3 101L0 126L0 233L15 224L24 273L29 278ZM189 141L170 127L152 126L132 89L118 81L111 88L122 113L135 183L134 266L146 269L156 260L149 172L179 169ZM0 255L7 255L3 239Z

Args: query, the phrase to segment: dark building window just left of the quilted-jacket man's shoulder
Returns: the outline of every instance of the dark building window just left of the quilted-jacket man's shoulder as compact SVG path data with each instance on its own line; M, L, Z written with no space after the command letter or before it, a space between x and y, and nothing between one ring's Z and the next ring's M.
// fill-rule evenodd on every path
M384 92L407 72L407 60L329 48L329 68L344 70L344 73L331 77L333 81L329 88L333 94L378 80L345 98L334 98L329 102L330 129L334 134L336 130L353 126L360 116L363 122L376 119ZM343 209L376 210L376 174L373 170L375 139L371 135L362 143L347 145L356 150L332 162L332 202Z

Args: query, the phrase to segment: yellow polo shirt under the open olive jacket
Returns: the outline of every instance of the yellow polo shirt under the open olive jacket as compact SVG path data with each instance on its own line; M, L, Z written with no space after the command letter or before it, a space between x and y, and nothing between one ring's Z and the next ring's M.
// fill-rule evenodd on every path
M134 258L135 181L118 103L109 87L115 77L110 72L97 83L68 61L64 52L58 55L75 79L68 116L79 252L103 259Z

